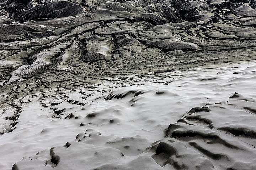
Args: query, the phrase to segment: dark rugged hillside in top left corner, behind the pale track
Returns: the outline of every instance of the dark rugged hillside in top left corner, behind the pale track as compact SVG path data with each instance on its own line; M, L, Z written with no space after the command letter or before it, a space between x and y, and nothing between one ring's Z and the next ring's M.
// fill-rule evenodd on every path
M19 22L79 15L85 8L76 1L1 0L1 13Z

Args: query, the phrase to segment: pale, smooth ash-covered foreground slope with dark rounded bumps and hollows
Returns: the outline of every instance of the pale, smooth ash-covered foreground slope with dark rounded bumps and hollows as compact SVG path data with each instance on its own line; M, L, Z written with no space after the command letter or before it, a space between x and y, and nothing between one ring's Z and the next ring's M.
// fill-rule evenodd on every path
M18 123L1 135L0 166L253 170L256 64L225 67L156 74L162 83L102 81L93 91L52 86L24 97Z

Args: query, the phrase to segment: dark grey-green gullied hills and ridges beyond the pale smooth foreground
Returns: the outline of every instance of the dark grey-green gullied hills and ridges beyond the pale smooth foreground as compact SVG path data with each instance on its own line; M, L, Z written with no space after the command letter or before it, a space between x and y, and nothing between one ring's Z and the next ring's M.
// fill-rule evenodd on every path
M255 58L254 1L9 0L0 5L2 83L74 66L75 75L112 74Z

